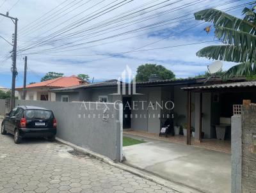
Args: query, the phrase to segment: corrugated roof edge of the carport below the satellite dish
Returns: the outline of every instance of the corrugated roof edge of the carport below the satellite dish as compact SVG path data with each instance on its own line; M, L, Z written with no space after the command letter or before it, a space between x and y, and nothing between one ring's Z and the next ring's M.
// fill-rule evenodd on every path
M223 84L211 84L205 86L191 86L191 87L184 87L181 89L184 90L196 90L196 89L220 89L220 88L243 88L243 87L255 87L256 81L248 81L248 82L230 82L230 83L223 83Z

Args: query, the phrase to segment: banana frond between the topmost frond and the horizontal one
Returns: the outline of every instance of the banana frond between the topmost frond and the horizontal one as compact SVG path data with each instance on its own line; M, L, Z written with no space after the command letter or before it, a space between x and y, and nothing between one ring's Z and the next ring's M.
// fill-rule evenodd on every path
M256 35L222 26L216 26L214 33L216 38L223 43L241 46L246 49L255 49Z

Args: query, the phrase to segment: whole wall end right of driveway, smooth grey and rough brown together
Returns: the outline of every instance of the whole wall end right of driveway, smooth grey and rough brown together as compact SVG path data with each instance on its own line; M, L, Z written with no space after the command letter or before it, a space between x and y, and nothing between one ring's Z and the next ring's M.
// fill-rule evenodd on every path
M238 110L231 121L232 193L256 192L256 104Z

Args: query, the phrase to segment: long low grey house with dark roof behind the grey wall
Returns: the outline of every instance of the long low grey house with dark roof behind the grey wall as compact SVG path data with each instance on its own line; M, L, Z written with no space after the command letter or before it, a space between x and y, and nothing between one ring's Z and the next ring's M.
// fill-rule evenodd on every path
M230 79L227 82L244 82L244 78ZM223 84L218 77L212 77L205 83L205 78L198 79L181 79L181 80L153 80L148 82L136 82L136 93L128 95L120 93L116 95L118 81L111 80L105 82L97 82L81 86L73 86L68 88L53 89L56 93L56 101L86 101L86 102L116 102L122 101L124 106L129 102L135 105L135 108L124 109L124 128L132 128L150 133L159 133L167 114L184 115L185 118L180 120L182 123L188 122L188 93L191 93L191 126L196 130L195 139L199 139L198 127L200 112L200 91L196 92L196 86L205 86L212 84ZM123 82L120 82L122 85ZM128 87L128 84L125 84ZM185 91L189 87L195 90ZM132 88L134 88L132 86ZM182 89L184 88L184 89ZM127 88L128 89L128 88ZM220 123L220 117L230 118L232 116L234 104L241 104L244 98L251 99L256 102L256 97L252 93L219 93L214 89L202 92L202 132L205 138L216 138L216 124ZM114 93L114 95L113 95ZM172 101L174 108L169 110L165 107L161 108L161 103ZM144 107L143 107L144 105ZM170 102L168 105L172 105ZM150 106L150 107L148 107ZM163 105L162 105L163 106ZM147 108L145 108L147 107ZM158 108L157 108L158 107ZM230 130L227 136L230 135Z

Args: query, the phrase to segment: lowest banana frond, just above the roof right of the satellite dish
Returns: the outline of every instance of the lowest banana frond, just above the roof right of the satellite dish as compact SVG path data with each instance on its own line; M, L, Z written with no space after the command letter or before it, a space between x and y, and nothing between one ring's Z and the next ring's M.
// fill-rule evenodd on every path
M250 77L256 74L256 66L255 63L251 63L250 61L246 63L241 63L236 66L232 66L229 68L224 74L223 79L228 79L230 77Z

